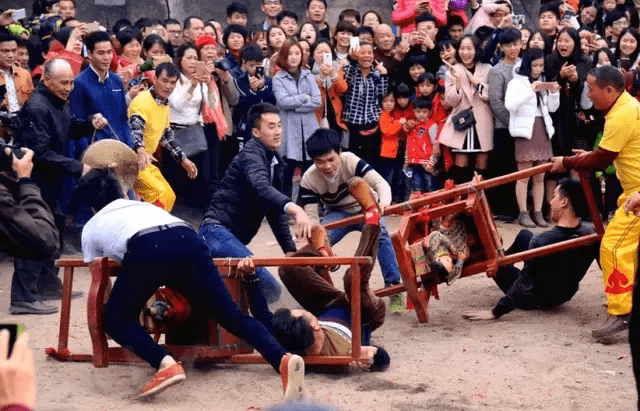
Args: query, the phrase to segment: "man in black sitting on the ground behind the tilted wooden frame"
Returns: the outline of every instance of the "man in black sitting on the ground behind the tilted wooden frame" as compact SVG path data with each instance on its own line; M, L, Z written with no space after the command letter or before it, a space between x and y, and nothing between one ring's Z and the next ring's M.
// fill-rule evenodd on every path
M590 224L585 224L578 218L585 214L585 204L578 181L560 181L550 202L551 217L556 226L538 235L533 235L526 229L521 230L506 254L595 233ZM512 265L501 267L494 280L505 293L504 297L491 311L469 311L463 317L472 321L493 320L516 308L548 309L569 301L598 256L599 248L599 244L590 244L537 257L525 262L522 270Z

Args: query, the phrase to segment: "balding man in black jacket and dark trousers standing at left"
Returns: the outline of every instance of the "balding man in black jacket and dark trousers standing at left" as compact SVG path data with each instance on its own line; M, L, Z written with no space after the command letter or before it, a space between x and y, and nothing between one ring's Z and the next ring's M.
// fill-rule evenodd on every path
M67 141L107 125L101 114L90 119L76 119L71 114L67 98L73 89L73 80L73 70L66 61L55 59L45 65L42 82L20 112L18 136L20 145L34 151L33 179L53 212L60 233L60 250L65 224L59 204L63 177L79 178L89 170L88 166L64 155ZM57 311L56 307L42 303L62 296L62 283L54 261L55 258L44 261L14 259L12 314L52 314ZM73 297L80 295L82 293L77 292Z

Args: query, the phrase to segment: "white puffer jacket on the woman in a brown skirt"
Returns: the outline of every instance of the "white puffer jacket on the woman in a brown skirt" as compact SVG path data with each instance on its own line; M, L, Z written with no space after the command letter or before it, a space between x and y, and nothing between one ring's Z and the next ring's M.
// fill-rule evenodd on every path
M541 79L544 81L544 79ZM560 92L540 92L542 95L540 111L544 119L549 138L553 137L555 130L549 113L555 112L560 106ZM524 137L531 139L533 124L536 120L538 108L538 96L531 89L531 82L526 76L514 73L513 79L507 85L507 93L504 106L509 110L509 133L512 137Z

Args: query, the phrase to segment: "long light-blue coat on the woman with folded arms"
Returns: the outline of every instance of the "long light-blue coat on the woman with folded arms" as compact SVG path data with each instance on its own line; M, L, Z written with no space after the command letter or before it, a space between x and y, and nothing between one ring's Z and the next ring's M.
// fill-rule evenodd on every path
M280 155L296 161L307 159L302 142L318 128L315 111L322 103L316 79L309 70L302 69L296 82L288 71L280 70L273 77L273 94L282 121ZM311 96L309 101L307 95Z

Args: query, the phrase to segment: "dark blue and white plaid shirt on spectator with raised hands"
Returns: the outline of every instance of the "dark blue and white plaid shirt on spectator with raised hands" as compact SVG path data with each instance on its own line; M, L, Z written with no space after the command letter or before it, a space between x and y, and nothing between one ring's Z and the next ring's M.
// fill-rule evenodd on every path
M364 78L355 63L344 66L343 70L349 90L345 97L342 120L358 126L377 124L389 78L377 70L371 70L367 78Z

